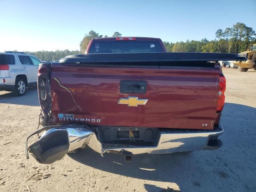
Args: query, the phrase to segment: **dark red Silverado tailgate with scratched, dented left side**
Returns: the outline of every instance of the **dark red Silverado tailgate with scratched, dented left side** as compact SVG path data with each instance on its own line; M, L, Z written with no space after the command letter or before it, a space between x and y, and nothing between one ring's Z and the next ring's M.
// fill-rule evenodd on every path
M53 123L213 129L218 67L54 64ZM146 82L146 92L121 93L120 82ZM145 104L118 104L135 97ZM124 101L127 101L124 100Z

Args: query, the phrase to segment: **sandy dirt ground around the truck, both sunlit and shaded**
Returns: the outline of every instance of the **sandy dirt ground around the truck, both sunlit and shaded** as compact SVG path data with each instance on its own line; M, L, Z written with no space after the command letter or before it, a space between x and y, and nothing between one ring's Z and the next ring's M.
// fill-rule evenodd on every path
M36 88L26 96L0 92L0 192L256 191L256 72L224 68L226 103L219 150L122 156L91 149L54 164L26 160L25 139L36 130Z

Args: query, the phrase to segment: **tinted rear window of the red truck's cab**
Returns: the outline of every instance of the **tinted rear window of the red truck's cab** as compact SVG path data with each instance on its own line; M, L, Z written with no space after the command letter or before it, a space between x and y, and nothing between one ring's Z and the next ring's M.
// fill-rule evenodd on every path
M158 41L97 41L89 53L156 53L163 52Z

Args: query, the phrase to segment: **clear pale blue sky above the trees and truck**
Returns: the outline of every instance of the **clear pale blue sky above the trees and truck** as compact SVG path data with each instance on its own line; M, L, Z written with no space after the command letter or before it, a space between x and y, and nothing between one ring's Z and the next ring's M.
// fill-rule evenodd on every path
M256 30L256 0L0 0L0 52L80 50L85 33L213 40L236 22Z

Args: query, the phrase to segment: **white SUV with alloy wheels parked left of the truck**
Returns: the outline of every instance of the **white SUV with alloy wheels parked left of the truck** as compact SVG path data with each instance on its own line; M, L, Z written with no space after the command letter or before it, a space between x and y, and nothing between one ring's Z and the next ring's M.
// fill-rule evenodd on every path
M0 91L12 91L17 96L26 92L26 87L36 85L38 65L41 61L23 52L0 53Z

